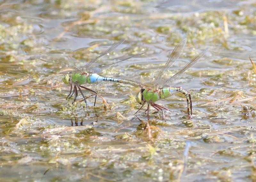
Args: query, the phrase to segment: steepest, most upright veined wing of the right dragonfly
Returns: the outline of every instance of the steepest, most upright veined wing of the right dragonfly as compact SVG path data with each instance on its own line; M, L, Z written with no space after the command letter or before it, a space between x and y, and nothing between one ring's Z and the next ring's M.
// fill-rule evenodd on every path
M164 73L172 66L172 64L180 57L182 49L187 43L187 38L183 39L178 43L178 45L173 49L171 56L169 57L167 63L164 65L162 70L156 75L156 80L154 83L157 84L158 80L161 79ZM155 84L154 84L155 85Z

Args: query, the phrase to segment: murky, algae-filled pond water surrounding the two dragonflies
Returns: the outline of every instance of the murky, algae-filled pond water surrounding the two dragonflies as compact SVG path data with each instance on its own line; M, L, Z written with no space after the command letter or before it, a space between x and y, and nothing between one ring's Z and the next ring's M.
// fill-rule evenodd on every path
M0 180L256 180L255 17L253 0L0 1ZM111 108L91 97L85 117L84 102L65 100L66 68L37 59L84 65L126 39L96 66L147 53L101 75L152 80L185 37L164 76L210 48L179 83L191 92L193 119L182 94L158 102L170 109L165 120L152 108L149 121L136 118L140 88L116 83L87 85Z

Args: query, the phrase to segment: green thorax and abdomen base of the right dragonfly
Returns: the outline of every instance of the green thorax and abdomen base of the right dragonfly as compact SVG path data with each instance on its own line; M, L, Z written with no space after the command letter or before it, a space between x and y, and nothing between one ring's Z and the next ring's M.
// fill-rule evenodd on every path
M160 99L167 98L171 96L171 92L169 88L161 88L159 90L144 90L143 91L143 97L147 102L156 102Z

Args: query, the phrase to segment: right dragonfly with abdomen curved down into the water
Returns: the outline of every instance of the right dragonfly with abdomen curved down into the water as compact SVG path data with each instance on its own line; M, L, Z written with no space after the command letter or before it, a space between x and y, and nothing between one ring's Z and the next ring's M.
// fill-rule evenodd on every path
M165 99L167 97L170 97L173 94L176 93L182 93L185 95L187 99L187 108L188 108L188 118L192 118L192 100L191 100L191 95L189 91L182 87L174 87L175 83L180 79L180 76L190 67L192 67L196 62L202 58L206 52L209 49L205 49L201 53L199 53L196 57L194 57L188 64L186 64L179 72L174 74L171 78L168 79L163 79L164 73L172 66L172 64L180 57L180 54L186 45L187 38L183 39L178 43L178 45L173 49L168 61L164 65L164 67L161 69L161 71L156 75L155 79L151 82L140 82L135 79L120 79L118 82L120 83L125 83L125 84L130 84L133 86L140 87L140 92L136 95L136 101L141 105L139 110L140 111L145 103L148 104L148 108L146 111L148 111L147 116L149 119L149 106L152 106L155 108L157 111L162 111L162 118L163 118L163 110L168 110L164 106L161 106L159 104L156 104L160 99ZM136 113L137 113L136 112ZM136 114L135 113L135 114Z

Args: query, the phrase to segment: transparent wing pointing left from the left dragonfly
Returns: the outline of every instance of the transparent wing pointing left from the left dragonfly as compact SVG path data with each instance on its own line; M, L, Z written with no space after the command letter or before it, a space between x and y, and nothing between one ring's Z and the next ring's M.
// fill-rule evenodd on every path
M67 68L71 68L73 70L80 70L76 64L68 64L65 62L72 62L73 60L63 58L63 57L52 57L52 56L40 56L38 57L41 61L52 63L52 64L59 64L61 66L65 66ZM64 62L65 61L65 62Z

